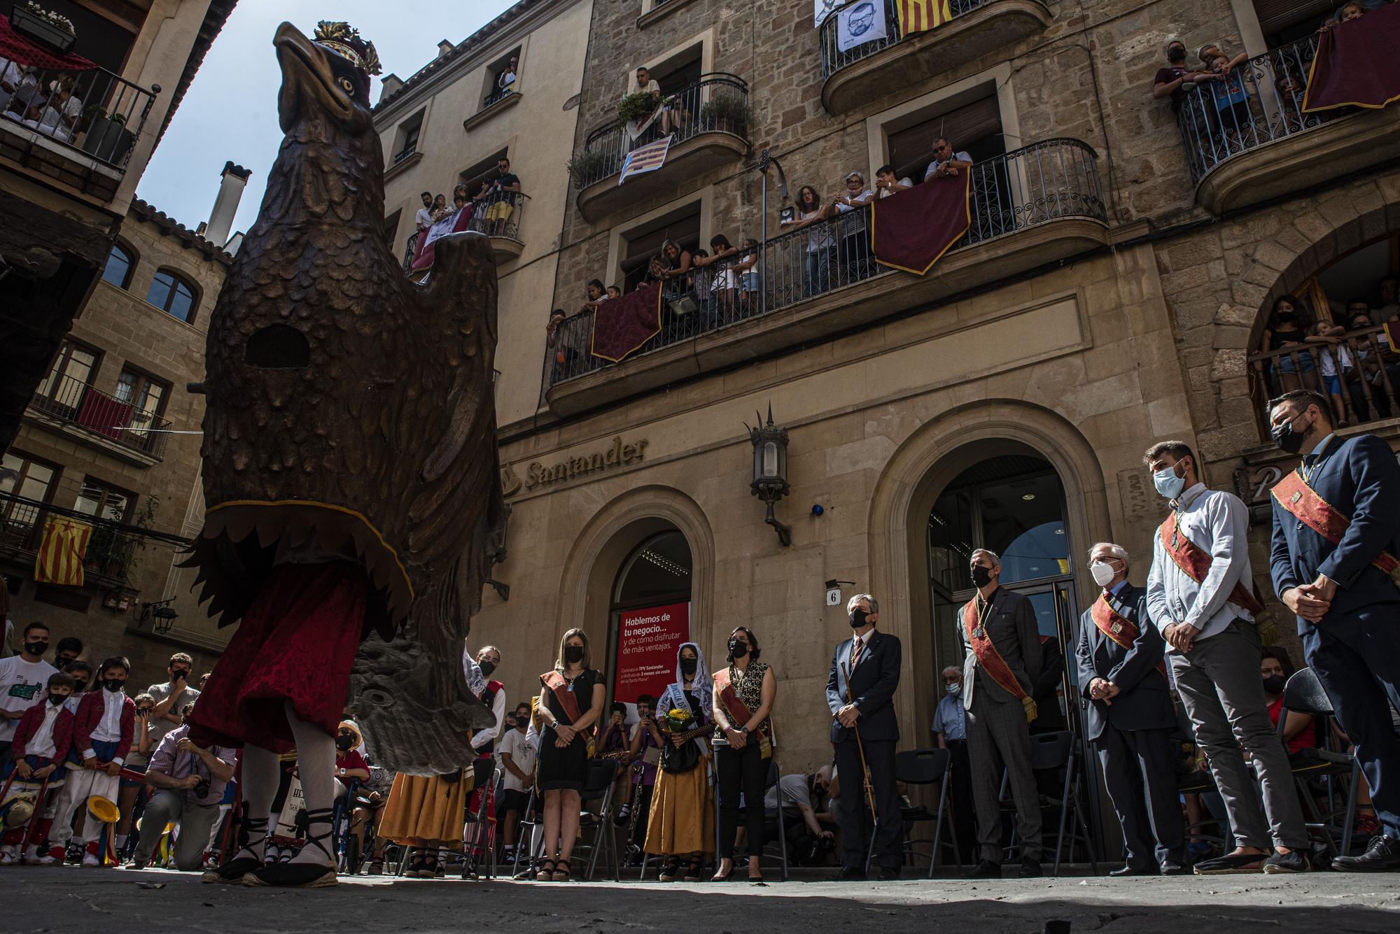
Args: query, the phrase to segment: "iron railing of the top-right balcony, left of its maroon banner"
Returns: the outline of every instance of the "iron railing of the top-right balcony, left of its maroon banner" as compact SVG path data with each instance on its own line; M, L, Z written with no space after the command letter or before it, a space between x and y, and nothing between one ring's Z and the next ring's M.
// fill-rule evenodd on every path
M1340 108L1303 113L1316 55L1317 36L1310 35L1257 55L1224 78L1183 85L1176 123L1193 182L1231 157L1354 112Z

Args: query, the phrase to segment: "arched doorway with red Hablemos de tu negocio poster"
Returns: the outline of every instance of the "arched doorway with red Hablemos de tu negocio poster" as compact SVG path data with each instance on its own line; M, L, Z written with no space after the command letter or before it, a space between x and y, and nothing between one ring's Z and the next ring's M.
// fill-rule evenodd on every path
M608 700L657 698L675 680L676 649L692 640L690 544L673 526L644 537L622 561L609 604Z

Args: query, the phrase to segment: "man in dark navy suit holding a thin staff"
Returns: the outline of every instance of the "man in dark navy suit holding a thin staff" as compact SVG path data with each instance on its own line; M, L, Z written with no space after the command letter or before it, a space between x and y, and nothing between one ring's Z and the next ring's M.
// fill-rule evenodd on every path
M826 703L832 709L832 745L841 794L836 800L836 824L841 828L841 871L837 878L865 878L865 845L875 836L875 861L881 879L897 879L904 861L904 821L900 818L899 784L895 780L895 744L899 720L895 717L895 689L903 647L897 636L875 629L879 603L868 593L855 594L846 604L854 633L836 646L832 674L826 680ZM847 677L850 681L847 682ZM860 740L857 740L860 734ZM869 768L875 817L867 808L864 769Z

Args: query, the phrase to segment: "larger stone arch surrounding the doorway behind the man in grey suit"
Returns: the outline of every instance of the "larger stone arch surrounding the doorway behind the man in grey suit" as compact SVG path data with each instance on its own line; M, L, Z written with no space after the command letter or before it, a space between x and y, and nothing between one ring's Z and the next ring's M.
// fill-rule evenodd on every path
M967 464L953 457L969 446L1018 442L1032 447L1060 474L1071 544L1088 548L1110 538L1112 519L1103 468L1093 446L1079 429L1057 412L1030 403L988 398L949 410L904 439L881 473L871 496L871 587L881 600L881 626L906 646L907 670L896 707L909 735L928 735L932 705L938 699L928 668L932 640L928 566L916 561L927 554L924 527L934 499ZM1081 593L1091 584L1082 562ZM1067 647L1068 652L1068 647Z

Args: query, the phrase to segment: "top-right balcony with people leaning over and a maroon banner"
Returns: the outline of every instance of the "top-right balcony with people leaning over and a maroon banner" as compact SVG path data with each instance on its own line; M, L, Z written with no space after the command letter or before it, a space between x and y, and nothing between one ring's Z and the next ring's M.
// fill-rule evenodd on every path
M1264 22L1271 48L1256 56L1170 45L1155 96L1170 96L1201 207L1222 214L1400 157L1400 109L1385 106L1400 87L1382 88L1348 52L1378 41L1393 49L1400 8L1368 6L1347 3L1287 28Z

